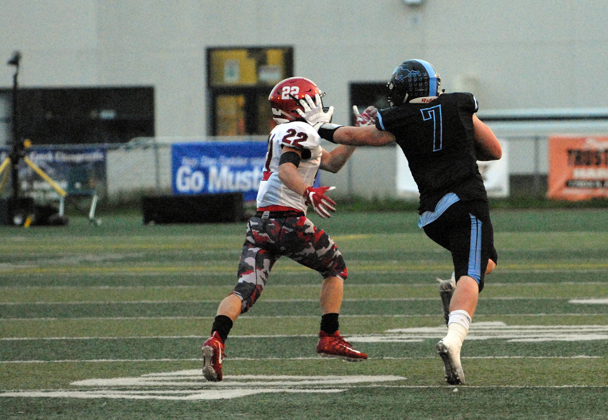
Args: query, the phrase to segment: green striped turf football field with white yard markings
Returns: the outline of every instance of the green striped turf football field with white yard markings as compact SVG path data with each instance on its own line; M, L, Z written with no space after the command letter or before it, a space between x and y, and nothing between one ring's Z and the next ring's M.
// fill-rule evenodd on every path
M314 352L320 277L282 259L232 329L224 381L199 346L236 281L244 224L0 227L0 419L606 419L608 211L497 210L499 266L443 381L436 277L415 213L311 216L348 264L340 332Z

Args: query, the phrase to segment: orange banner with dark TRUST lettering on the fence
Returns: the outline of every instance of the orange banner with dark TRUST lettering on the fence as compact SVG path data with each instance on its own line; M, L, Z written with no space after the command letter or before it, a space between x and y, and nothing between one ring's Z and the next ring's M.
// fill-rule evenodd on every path
M608 198L608 137L550 137L547 197Z

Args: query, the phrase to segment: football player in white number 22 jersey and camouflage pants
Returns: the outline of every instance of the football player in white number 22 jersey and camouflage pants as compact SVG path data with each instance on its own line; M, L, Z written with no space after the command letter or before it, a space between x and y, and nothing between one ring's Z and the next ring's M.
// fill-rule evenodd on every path
M315 98L316 104L307 103L306 95L309 101ZM354 151L353 146L344 145L330 152L322 148L317 125L329 122L333 114L333 107L319 112L323 95L313 81L291 77L275 85L268 97L277 126L268 139L257 213L247 223L237 286L219 304L212 335L202 345L202 372L207 380L222 380L224 342L233 322L260 297L272 266L283 255L323 277L317 353L353 362L367 359L338 332L347 278L344 258L333 239L306 218L308 205L321 218L336 211L336 203L325 195L334 187L315 188L314 180L319 169L339 171Z

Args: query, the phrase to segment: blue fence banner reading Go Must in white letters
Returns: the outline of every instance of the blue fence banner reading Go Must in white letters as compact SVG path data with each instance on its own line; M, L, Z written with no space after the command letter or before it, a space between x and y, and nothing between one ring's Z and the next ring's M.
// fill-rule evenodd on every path
M241 191L255 200L266 142L199 142L171 145L171 186L176 195Z

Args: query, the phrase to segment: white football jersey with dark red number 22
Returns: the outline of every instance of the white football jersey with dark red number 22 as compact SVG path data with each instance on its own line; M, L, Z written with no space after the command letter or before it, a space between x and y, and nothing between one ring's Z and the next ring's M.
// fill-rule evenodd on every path
M322 148L319 133L305 122L279 124L272 129L268 140L264 176L258 190L258 207L282 205L306 213L304 197L287 188L278 179L278 162L281 159L282 146L302 151L298 172L307 185L312 186L314 183L321 163Z

